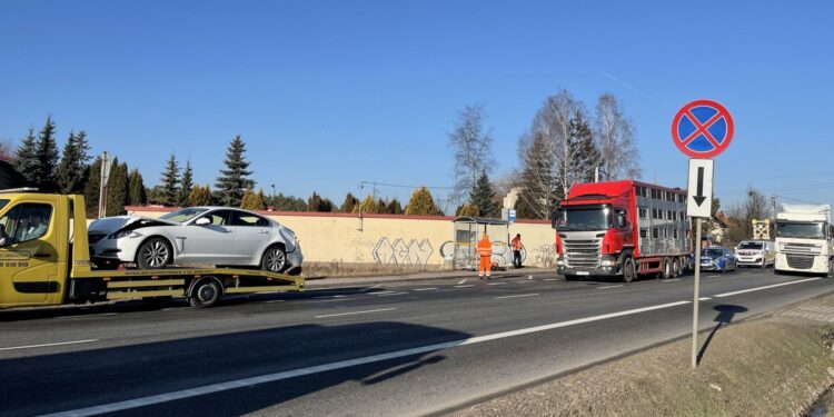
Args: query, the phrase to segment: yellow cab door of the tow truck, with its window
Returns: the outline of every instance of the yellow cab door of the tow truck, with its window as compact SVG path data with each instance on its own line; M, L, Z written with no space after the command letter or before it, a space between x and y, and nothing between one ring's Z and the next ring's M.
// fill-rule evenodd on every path
M0 307L56 302L56 201L27 198L0 209Z

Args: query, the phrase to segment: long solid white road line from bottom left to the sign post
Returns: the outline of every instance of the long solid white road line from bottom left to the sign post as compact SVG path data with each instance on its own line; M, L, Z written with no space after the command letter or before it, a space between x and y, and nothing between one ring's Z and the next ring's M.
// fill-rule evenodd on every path
M447 341L443 344L427 345L427 346L416 347L411 349L366 356L366 357L356 358L356 359L340 360L340 361L330 363L330 364L311 366L308 368L299 368L299 369L286 370L281 373L261 375L259 377L236 379L236 380L230 380L227 383L203 385L200 387L193 387L193 388L182 389L178 391L170 391L170 393L159 394L159 395L153 395L153 396L148 396L148 397L133 398L133 399L129 399L125 401L102 404L100 406L56 413L49 416L80 417L80 416L95 416L95 415L105 414L105 413L122 411L127 409L146 407L146 406L150 406L155 404L162 404L162 403L176 401L176 400L186 399L186 398L193 398L193 397L208 395L208 394L228 391L228 390L236 389L236 388L250 387L250 386L259 385L259 384L269 384L269 383L275 383L278 380L296 378L296 377L306 376L306 375L320 374L320 373L326 373L326 371L336 370L336 369L344 369L344 368L349 368L349 367L359 366L359 365L368 365L368 364L375 364L375 363L379 363L384 360L397 359L397 358L403 358L403 357L408 357L408 356L414 356L414 355L421 355L421 354L426 354L430 351L455 348L458 346L483 344L485 341L505 339L508 337L529 335L529 334L535 334L539 331L553 330L553 329L557 329L562 327L582 325L585 322L599 321L599 320L605 320L605 319L615 318L615 317L631 316L631 315L636 315L636 314L646 312L646 311L677 307L677 306L683 306L689 302L691 301L676 301L676 302L648 306L648 307L643 307L643 308L635 308L633 310L609 312L609 314L605 314L600 316L579 318L575 320L554 322L550 325L528 327L524 329L504 331L504 332L498 332L498 334L493 334L493 335L470 337L468 339L453 340L453 341Z

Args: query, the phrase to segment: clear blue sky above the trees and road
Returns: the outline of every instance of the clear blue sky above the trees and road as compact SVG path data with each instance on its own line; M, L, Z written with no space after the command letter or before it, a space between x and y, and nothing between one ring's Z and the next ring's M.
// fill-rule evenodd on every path
M447 133L483 103L503 175L545 97L613 92L644 180L685 187L677 109L735 119L716 195L834 203L834 3L824 1L3 1L0 140L47 115L158 181L211 182L235 135L259 186L340 202L360 181L450 186ZM438 190L439 191L439 190ZM379 188L383 197L410 190ZM366 190L367 193L367 190Z

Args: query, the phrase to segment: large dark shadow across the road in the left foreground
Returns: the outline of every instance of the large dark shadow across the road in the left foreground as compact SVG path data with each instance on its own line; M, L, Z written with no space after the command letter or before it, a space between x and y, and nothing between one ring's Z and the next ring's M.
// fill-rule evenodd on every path
M182 332L187 334L188 329L182 329ZM119 413L136 416L240 416L331 387L338 390L347 386L349 390L341 395L357 395L357 390L360 394L361 388L350 387L350 384L380 384L433 366L446 359L437 351L448 347L433 345L454 345L468 337L470 335L455 330L389 321L298 325L3 359L0 360L0 397L3 398L0 415L68 411L340 364L284 375L280 380L258 381ZM130 342L129 335L126 335L125 341ZM404 356L385 355L361 363L354 361L427 346L430 348L408 350L400 354ZM328 398L336 399L339 395L337 391ZM341 411L345 410L329 409L329 413Z

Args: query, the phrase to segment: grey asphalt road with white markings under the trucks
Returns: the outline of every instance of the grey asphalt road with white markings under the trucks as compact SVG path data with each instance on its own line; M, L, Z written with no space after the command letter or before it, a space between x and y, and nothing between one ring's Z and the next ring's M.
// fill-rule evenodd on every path
M834 279L742 269L705 272L701 287L699 324L711 329L832 291ZM211 309L0 311L0 415L441 413L685 336L692 289L691 277L537 275L259 295Z

